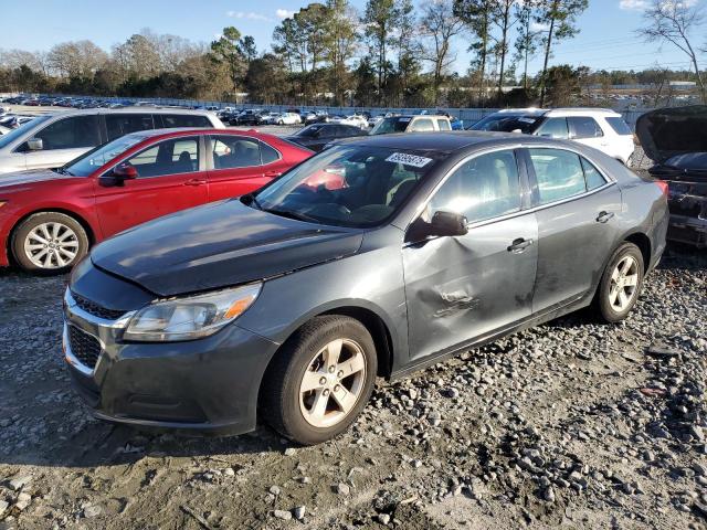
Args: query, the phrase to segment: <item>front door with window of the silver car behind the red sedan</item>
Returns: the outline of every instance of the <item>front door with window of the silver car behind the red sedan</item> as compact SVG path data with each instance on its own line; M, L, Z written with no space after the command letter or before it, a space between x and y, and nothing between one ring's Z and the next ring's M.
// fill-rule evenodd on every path
M102 144L98 116L68 116L57 119L34 134L42 140L42 149L31 151L28 142L17 151L24 153L27 169L56 168Z

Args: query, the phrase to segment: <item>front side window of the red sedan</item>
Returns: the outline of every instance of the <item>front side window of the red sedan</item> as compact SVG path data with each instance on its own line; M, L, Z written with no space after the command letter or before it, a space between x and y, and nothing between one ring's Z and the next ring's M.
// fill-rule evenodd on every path
M134 155L125 163L139 178L191 173L199 170L199 137L165 140Z

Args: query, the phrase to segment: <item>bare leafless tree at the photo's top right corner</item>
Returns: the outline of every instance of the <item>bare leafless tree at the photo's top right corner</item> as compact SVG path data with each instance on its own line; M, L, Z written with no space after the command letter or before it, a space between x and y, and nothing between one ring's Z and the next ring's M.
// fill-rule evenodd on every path
M645 25L637 30L646 42L668 42L689 57L695 71L697 86L704 103L707 103L705 82L697 63L697 53L690 34L705 22L704 11L697 3L678 0L653 0L643 13Z

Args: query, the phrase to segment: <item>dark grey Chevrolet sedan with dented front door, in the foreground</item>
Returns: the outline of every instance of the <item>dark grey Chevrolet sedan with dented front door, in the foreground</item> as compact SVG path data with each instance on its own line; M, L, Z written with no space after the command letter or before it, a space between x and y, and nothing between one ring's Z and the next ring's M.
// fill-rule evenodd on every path
M310 184L329 172L340 186ZM98 417L260 418L316 444L377 377L589 305L626 317L665 246L665 191L551 139L357 138L96 246L65 293L65 359Z

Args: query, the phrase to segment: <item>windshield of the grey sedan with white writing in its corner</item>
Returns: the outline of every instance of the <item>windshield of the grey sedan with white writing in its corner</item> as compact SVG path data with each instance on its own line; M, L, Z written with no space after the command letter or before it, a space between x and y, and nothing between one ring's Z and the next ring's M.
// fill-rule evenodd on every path
M390 218L434 167L437 153L337 146L300 163L244 202L277 215L366 227Z

